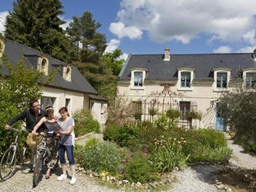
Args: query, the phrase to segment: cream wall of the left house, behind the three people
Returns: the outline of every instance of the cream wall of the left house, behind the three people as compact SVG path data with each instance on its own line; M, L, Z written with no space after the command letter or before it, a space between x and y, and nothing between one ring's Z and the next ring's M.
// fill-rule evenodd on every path
M84 103L86 103L84 99L87 98L84 96L84 93L67 91L67 90L51 88L51 87L43 87L42 96L55 98L55 102L53 106L55 114L58 114L58 110L62 106L65 106L66 99L70 99L70 103L68 106L70 115L72 115L72 113L78 109L83 109ZM41 100L39 102L41 103ZM87 102L89 102L89 96L88 96Z

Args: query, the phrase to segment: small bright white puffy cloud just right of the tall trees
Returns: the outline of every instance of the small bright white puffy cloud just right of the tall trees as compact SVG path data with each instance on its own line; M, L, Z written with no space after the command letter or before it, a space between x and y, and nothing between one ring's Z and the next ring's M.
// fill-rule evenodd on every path
M125 27L123 23L111 23L110 31L116 34L119 38L129 37L131 39L141 38L142 31L140 31L137 27Z

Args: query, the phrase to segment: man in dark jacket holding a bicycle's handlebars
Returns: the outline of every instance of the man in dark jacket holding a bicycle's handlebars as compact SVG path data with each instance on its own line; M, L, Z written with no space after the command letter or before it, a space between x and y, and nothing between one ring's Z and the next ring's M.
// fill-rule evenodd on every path
M29 132L33 131L34 126L40 121L42 117L46 116L46 112L40 109L40 105L37 100L33 100L29 103L30 109L25 110L23 113L17 115L16 117L12 118L7 125L5 125L5 129L10 129L11 125L19 120L26 119L26 129ZM45 124L43 123L39 129L37 130L38 133L45 130ZM32 157L31 157L31 164L35 164L36 159L36 146L31 147ZM32 171L33 166L31 167Z

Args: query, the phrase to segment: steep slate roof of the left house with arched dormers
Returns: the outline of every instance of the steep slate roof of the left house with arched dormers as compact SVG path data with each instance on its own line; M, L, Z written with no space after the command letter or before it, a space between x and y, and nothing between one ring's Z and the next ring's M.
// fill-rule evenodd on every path
M25 65L27 67L37 67L37 55L42 55L43 53L36 51L32 48L20 45L12 40L6 39L4 54L6 58L15 65L20 59L24 58ZM49 67L48 70L56 69L56 67L66 66L67 63L57 60L53 57L49 57ZM2 69L1 73L7 74L6 69ZM55 75L54 82L48 83L48 86L55 87L59 89L77 91L88 94L98 93L91 86L91 84L83 77L83 75L78 71L78 69L72 66L71 70L71 81L67 81L62 78L62 70Z

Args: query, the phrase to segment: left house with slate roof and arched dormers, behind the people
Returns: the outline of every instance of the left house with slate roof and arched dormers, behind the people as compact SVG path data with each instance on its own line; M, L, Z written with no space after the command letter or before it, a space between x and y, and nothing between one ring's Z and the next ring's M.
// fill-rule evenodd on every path
M2 45L0 54L4 53L13 65L23 58L27 67L41 70L46 76L50 70L60 69L59 73L55 75L54 81L42 87L42 98L39 101L42 109L45 109L48 105L52 105L57 112L62 106L66 106L72 115L78 109L90 109L91 97L99 97L95 89L76 67L6 39L1 35L0 43ZM2 73L8 75L7 70L2 71ZM101 103L103 105L106 101L101 98L101 100L97 100L95 103L101 106ZM100 114L103 106L102 109L97 108L97 110L99 111L97 113ZM94 110L95 113L96 109ZM99 122L104 123L102 122L103 117L99 115L95 115L94 117Z

